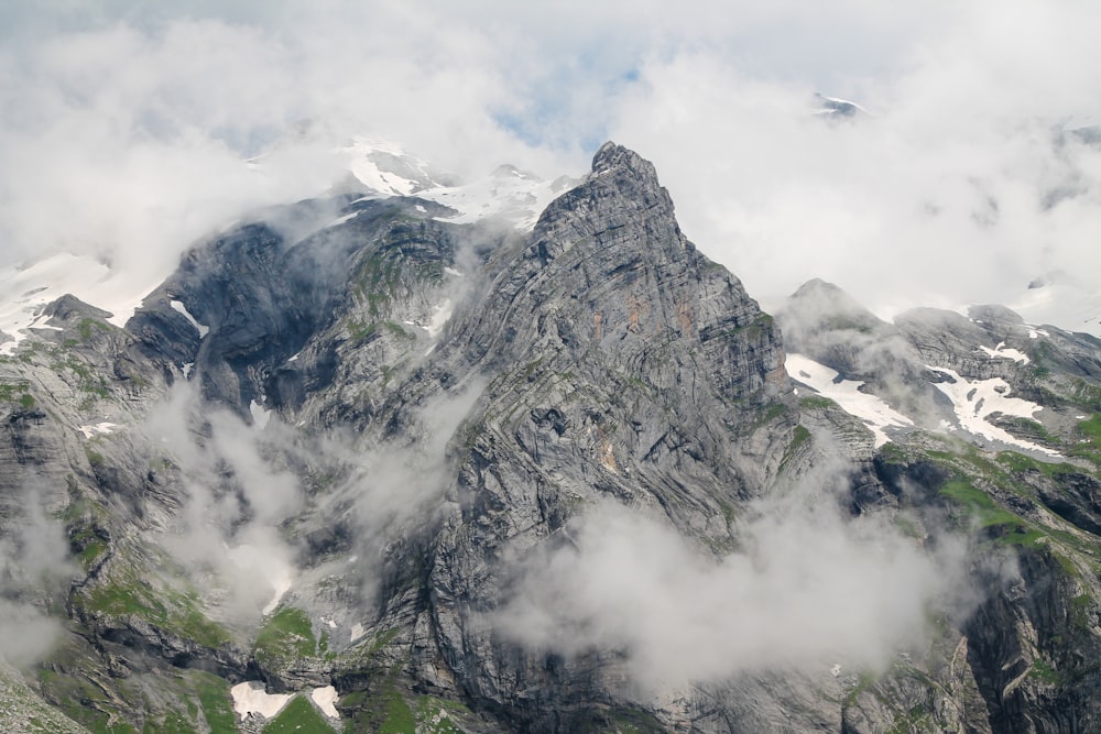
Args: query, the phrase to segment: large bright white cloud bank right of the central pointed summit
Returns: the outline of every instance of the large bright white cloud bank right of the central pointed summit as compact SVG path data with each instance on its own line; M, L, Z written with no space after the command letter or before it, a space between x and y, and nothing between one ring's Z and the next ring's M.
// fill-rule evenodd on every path
M891 317L1101 272L1101 153L1053 134L1098 121L1101 66L1082 63L1098 11L968 8L909 39L890 74L840 85L872 112L852 124L807 114L810 78L704 51L648 64L611 134L654 158L689 238L770 307L815 276ZM1075 195L1045 208L1059 189Z

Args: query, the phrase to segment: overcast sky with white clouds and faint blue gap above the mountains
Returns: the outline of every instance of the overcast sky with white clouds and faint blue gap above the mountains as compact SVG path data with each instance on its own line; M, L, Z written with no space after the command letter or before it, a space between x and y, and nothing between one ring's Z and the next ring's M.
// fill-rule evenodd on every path
M171 267L339 177L321 144L244 164L309 120L467 175L615 140L766 306L815 276L883 314L1098 288L1101 151L1056 143L1101 121L1098 37L1095 0L2 3L0 262Z

